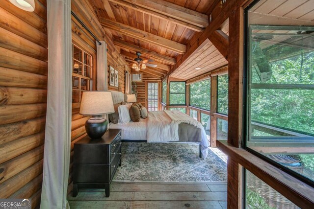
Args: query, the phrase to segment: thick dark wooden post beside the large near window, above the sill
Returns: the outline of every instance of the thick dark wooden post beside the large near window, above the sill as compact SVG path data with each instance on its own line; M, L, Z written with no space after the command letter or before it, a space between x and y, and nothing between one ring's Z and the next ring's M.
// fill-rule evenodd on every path
M243 114L243 8L229 19L229 90L228 90L228 142L242 147Z

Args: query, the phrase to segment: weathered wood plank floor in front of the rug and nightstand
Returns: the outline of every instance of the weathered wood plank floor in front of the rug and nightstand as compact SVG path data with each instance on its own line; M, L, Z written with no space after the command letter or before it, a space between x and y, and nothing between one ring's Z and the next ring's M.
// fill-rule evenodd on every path
M68 196L71 209L227 209L227 184L112 183Z

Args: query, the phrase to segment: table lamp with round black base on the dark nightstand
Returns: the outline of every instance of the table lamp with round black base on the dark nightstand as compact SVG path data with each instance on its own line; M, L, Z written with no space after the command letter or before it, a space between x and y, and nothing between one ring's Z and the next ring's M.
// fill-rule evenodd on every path
M110 92L83 92L79 114L92 116L85 122L86 133L91 139L99 139L105 134L108 121L102 115L110 113L114 113Z

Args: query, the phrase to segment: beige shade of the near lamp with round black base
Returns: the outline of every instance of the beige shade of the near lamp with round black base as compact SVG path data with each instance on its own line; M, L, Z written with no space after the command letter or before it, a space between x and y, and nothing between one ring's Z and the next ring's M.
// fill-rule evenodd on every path
M97 116L114 113L112 95L105 91L83 92L79 114Z

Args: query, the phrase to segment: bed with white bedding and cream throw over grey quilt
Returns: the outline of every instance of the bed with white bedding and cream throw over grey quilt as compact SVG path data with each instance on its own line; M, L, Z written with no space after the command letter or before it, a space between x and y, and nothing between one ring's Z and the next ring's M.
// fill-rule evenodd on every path
M126 100L121 92L110 91L114 104ZM146 119L127 124L109 123L109 128L122 129L123 141L150 143L197 143L200 144L200 157L206 159L209 142L202 124L179 111L149 112Z

